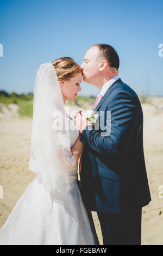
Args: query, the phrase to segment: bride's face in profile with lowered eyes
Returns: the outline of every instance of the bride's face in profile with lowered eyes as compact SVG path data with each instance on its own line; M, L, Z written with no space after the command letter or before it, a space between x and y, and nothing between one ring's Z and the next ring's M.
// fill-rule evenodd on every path
M80 83L82 83L82 72L74 75L68 81L60 81L61 93L64 102L66 100L74 101L76 99L78 92L82 90Z

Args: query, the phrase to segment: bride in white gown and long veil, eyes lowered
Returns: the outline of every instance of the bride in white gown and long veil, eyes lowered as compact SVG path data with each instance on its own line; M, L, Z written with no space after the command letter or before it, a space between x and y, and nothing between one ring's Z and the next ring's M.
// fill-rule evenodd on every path
M70 57L37 70L29 161L36 178L1 228L0 245L99 245L77 179L83 143L65 110L81 81L82 70Z

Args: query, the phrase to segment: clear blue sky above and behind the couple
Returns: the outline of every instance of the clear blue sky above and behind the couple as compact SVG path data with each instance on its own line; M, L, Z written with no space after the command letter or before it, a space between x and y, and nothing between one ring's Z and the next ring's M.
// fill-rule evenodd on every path
M110 44L120 73L139 95L163 95L163 1L0 0L0 90L33 92L41 63L70 56L82 64L87 48ZM96 96L82 82L79 95Z

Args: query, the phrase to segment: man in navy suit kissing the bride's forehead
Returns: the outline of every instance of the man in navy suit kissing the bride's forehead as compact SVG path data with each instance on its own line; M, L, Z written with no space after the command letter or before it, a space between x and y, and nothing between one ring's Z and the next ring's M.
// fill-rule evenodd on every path
M143 113L134 90L118 77L118 68L118 55L110 45L91 46L85 54L83 80L100 93L93 108L98 129L86 120L85 112L75 120L84 143L82 197L86 208L97 212L104 245L141 245L141 211L151 201Z

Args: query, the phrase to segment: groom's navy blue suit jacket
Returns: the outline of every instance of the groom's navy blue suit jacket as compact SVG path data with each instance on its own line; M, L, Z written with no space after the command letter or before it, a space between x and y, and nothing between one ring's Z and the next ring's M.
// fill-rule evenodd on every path
M120 213L147 205L151 195L139 97L118 79L105 92L95 111L99 129L87 126L80 136L84 143L80 184L86 207L97 212ZM101 113L106 126L110 123L108 111L111 111L110 135L102 136Z

